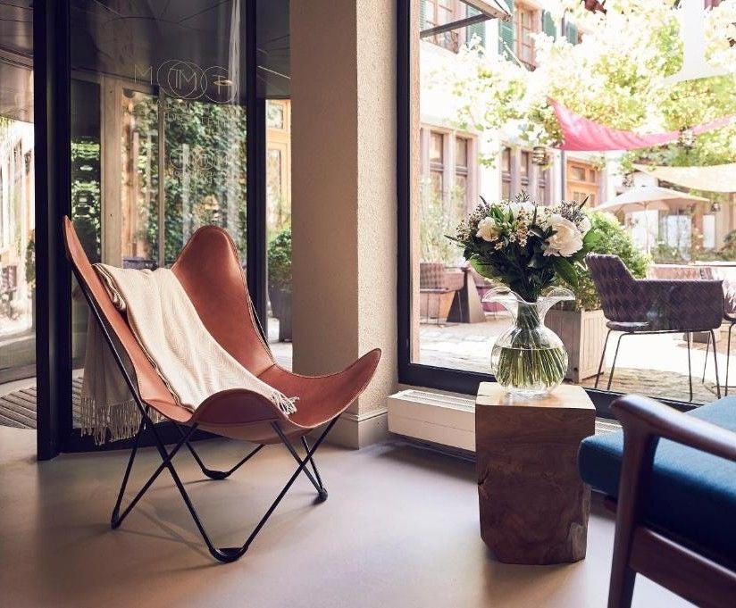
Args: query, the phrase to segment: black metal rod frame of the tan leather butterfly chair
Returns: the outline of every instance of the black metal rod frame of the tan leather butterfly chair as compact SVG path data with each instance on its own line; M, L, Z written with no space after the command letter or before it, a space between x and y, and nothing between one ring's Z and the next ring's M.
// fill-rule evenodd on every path
M194 456L195 461L197 461L197 464L202 469L202 472L208 478L227 479L228 477L230 477L232 473L237 471L240 468L240 466L245 464L248 460L250 460L251 457L257 454L263 448L263 445L256 446L254 450L249 452L242 460L240 460L237 464L235 464L228 471L213 471L211 469L208 469L205 466L205 462L203 462L199 454L197 454L197 451L194 449L194 446L191 445L190 439L194 431L197 430L197 424L193 424L191 426L184 425L185 429L182 429L182 425L174 423L176 424L177 429L179 429L180 431L181 438L180 438L180 441L171 449L171 451L167 451L166 447L163 444L161 436L158 433L158 430L155 428L155 423L150 417L150 407L147 404L144 404L140 396L138 395L138 388L136 387L136 383L133 381L133 379L130 378L130 373L126 369L125 364L123 363L123 358L120 352L118 351L117 347L114 344L113 337L110 335L109 329L107 329L102 313L98 310L97 305L94 299L92 298L92 296L88 294L87 287L85 287L84 281L81 279L76 269L74 270L74 273L77 276L79 287L81 288L82 293L87 299L90 310L95 315L96 321L100 324L100 328L102 329L103 334L105 335L105 340L108 346L110 346L115 362L117 363L118 368L120 369L121 374L123 378L125 379L126 385L130 389L130 393L132 394L136 402L136 405L138 406L138 411L140 412L140 415L141 415L140 426L138 427L138 432L136 433L136 436L134 438L133 447L130 451L130 459L128 461L128 466L125 469L125 474L123 475L123 478L122 478L120 492L118 494L117 501L115 502L115 506L113 508L113 515L110 520L110 525L113 529L117 529L121 525L122 521L132 511L133 507L135 507L136 504L138 504L138 501L141 499L141 497L144 494L146 494L146 491L148 490L148 488L153 485L155 479L158 478L158 476L161 474L161 472L164 469L167 469L169 473L171 474L171 479L173 479L174 484L179 489L181 498L183 499L184 504L186 504L187 509L189 513L191 514L192 519L194 520L195 525L197 526L197 529L199 530L200 535L202 535L202 538L205 541L205 545L207 546L207 549L209 550L210 554L212 554L214 559L218 560L219 562L225 562L225 563L235 562L247 552L248 547L254 541L255 537L258 535L261 529L263 529L263 525L266 523L266 521L268 521L269 517L271 517L272 513L276 510L276 507L279 505L283 497L286 496L287 492L289 492L289 488L294 484L294 482L297 480L297 477L301 473L305 474L306 478L312 482L312 484L314 485L314 488L317 490L316 502L322 503L325 500L327 500L327 488L324 487L324 485L322 484L322 477L320 476L317 466L314 463L314 453L322 445L322 441L324 440L325 437L327 437L328 433L330 432L332 427L335 425L335 423L338 421L338 419L334 418L332 421L330 421L330 423L322 431L322 434L319 437L317 437L317 440L314 442L314 446L312 447L309 446L305 437L301 437L301 442L306 452L306 455L304 458L301 458L299 456L299 454L297 453L297 449L293 446L291 441L289 441L289 437L287 437L283 433L283 431L280 429L279 423L274 421L271 423L272 429L280 437L281 443L283 443L283 445L286 446L287 450L289 450L289 454L291 454L294 460L298 463L297 470L294 471L294 473L291 475L291 477L289 478L289 481L281 489L279 495L276 496L276 499L273 501L273 503L268 508L268 510L263 514L261 521L259 521L256 524L250 536L247 537L246 541L243 543L242 546L236 546L236 547L215 546L213 541L207 534L207 531L205 530L205 526L202 524L202 521L199 519L197 510L195 509L194 504L192 504L192 501L189 498L187 489L184 487L184 484L181 482L179 473L176 471L176 469L173 466L173 462L172 462L173 458L174 456L176 456L176 454L179 453L180 448L182 446L187 446L189 452L192 454L192 456ZM152 433L154 437L155 447L158 450L158 453L161 455L162 462L158 466L158 468L154 471L154 473L151 475L151 477L146 481L143 487L140 488L140 490L138 491L138 494L135 497L133 497L133 499L130 501L130 504L128 504L125 510L121 513L120 509L121 509L121 504L122 504L122 498L125 494L125 489L128 486L128 481L130 479L130 471L133 468L133 462L135 461L136 454L138 453L138 445L140 442L140 437L143 434L143 432L146 430L146 428ZM307 464L311 465L312 471L314 471L314 475L312 474L312 471L309 471L309 469L307 468Z

